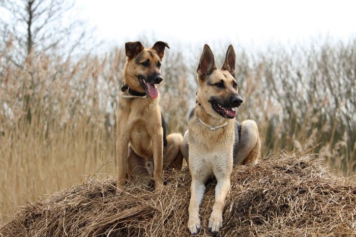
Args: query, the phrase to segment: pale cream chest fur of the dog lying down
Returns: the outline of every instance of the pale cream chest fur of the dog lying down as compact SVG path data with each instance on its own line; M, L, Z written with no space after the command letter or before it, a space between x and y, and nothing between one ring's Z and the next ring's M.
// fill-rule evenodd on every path
M234 121L217 130L202 125L196 116L189 121L189 169L192 175L204 179L230 175L234 145Z

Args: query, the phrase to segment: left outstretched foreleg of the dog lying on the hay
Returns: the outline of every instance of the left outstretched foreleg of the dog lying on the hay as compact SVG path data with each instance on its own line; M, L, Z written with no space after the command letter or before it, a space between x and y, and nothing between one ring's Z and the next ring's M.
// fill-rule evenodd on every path
M189 219L188 229L191 234L197 234L200 231L201 224L199 218L199 206L205 192L205 185L198 179L192 177L190 186Z

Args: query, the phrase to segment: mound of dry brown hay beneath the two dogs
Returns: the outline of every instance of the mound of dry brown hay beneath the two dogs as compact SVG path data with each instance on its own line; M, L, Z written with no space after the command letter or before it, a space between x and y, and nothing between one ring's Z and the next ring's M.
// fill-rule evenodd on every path
M131 179L120 196L115 179L87 179L49 198L21 206L0 228L0 236L186 236L190 175L165 172L162 193L150 179ZM200 208L200 235L215 184ZM356 189L321 165L313 155L281 154L256 166L235 167L221 236L356 235Z

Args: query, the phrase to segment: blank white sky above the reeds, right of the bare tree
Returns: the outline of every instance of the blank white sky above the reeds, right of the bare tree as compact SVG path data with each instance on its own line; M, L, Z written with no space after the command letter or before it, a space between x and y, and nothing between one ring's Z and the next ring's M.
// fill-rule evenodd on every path
M96 38L116 45L146 34L167 42L257 46L356 36L356 1L77 0L76 6Z

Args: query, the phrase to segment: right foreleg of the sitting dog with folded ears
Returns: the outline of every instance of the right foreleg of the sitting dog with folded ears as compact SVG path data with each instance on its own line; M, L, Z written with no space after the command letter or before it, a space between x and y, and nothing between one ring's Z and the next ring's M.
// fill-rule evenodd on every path
M153 177L155 179L155 189L159 190L163 186L163 129L156 130L152 139L153 163L155 169Z

